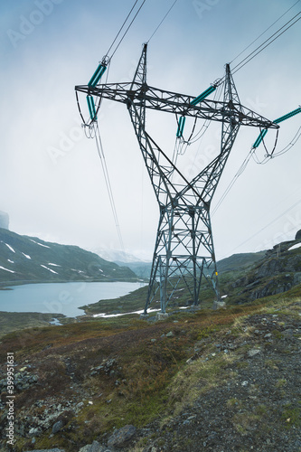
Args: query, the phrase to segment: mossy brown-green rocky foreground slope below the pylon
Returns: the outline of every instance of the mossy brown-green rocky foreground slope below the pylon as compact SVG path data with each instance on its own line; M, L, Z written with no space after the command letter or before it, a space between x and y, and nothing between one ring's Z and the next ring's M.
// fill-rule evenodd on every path
M1 450L9 351L15 452L299 451L300 300L5 336Z

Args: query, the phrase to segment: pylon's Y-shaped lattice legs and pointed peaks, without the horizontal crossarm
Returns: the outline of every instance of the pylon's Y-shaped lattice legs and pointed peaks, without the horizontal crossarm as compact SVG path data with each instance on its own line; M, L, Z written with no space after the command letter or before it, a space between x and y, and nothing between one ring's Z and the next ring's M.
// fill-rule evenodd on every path
M142 83L141 91L147 93L146 47L142 52L132 83ZM233 105L238 99L229 66L226 72L224 99ZM229 120L222 122L221 153L200 174L188 182L163 150L147 134L145 127L145 102L135 99L128 102L128 110L146 168L159 203L160 218L155 240L153 265L146 299L145 313L157 296L161 311L165 313L176 290L188 289L188 304L198 305L202 278L212 281L217 301L220 301L218 272L212 239L210 205L221 172L230 154L240 124ZM160 159L160 163L159 163ZM173 184L176 172L181 182Z

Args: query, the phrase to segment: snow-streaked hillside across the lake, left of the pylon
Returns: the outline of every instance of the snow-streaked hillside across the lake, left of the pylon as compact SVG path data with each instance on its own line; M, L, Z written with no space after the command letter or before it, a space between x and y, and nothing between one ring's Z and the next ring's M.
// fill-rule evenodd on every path
M136 280L127 267L77 246L46 242L0 228L0 286L29 282Z

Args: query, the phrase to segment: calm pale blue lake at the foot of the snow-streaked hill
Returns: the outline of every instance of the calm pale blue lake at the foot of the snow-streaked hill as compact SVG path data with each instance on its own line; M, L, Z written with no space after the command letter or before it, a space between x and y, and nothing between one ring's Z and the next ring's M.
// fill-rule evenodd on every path
M26 284L0 290L0 311L41 312L68 317L84 315L79 306L97 303L100 299L121 297L141 287L132 282L71 282Z

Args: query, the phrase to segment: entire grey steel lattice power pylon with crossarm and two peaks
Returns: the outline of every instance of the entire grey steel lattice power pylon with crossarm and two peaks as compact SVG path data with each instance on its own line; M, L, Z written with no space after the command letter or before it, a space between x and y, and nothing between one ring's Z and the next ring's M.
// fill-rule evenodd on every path
M90 96L111 99L127 105L140 150L155 190L160 218L155 240L153 266L146 299L145 314L159 291L161 311L183 280L193 305L199 304L202 278L212 281L216 302L221 300L212 240L210 206L221 173L230 155L240 126L277 128L277 124L240 104L240 99L226 65L222 101L195 98L163 89L146 82L147 45L130 83L77 86ZM221 122L221 152L212 162L188 181L165 152L146 132L146 109L165 111L181 118L193 117ZM174 177L176 175L176 177ZM174 183L176 179L176 183ZM216 303L215 302L215 303Z

